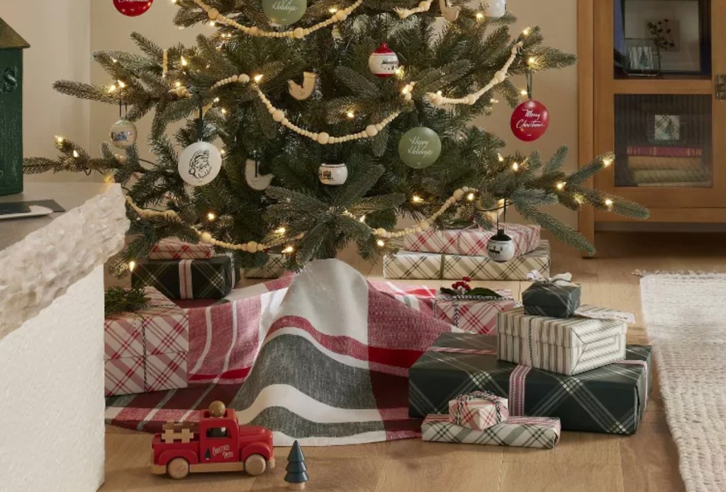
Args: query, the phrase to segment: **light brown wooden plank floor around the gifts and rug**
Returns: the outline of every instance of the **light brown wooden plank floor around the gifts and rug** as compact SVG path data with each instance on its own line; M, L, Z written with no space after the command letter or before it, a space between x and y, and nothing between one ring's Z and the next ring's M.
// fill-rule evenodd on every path
M583 301L635 312L630 343L647 343L634 270L726 271L726 235L602 233L600 256L581 259L555 243L553 273L572 272ZM370 278L380 265L347 255ZM410 281L423 285L425 281ZM428 282L432 284L431 282ZM433 283L432 285L440 285ZM484 284L481 284L484 285ZM511 288L526 284L486 283ZM106 483L112 491L282 491L289 448L277 448L277 469L259 478L244 474L190 475L182 482L148 471L151 436L107 427ZM424 443L417 440L362 446L306 448L309 491L462 492L680 492L678 455L656 384L638 433L629 437L563 433L555 450Z

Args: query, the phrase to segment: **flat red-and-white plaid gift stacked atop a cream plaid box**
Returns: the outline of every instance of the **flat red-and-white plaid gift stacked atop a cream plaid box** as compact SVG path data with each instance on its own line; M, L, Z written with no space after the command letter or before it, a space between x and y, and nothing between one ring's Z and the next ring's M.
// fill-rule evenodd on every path
M502 224L505 234L513 239L518 257L539 247L539 225ZM486 245L497 230L480 228L427 230L407 235L404 249L424 253L460 254L467 257L486 256Z

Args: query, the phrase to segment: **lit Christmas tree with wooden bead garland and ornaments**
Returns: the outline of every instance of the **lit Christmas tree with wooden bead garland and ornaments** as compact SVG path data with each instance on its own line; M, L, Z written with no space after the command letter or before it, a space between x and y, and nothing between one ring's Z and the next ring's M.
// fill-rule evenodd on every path
M507 206L593 252L541 208L648 217L585 186L613 156L566 175L567 149L549 159L503 155L501 138L471 124L498 99L521 103L510 77L575 62L544 46L539 28L512 35L514 15L496 12L504 3L177 0L176 25L208 22L215 33L168 49L134 33L141 53L94 53L112 85L56 84L126 109L112 135L125 152L104 143L92 157L58 137L60 157L26 159L25 172L101 172L123 185L131 241L117 272L168 236L234 251L243 267L277 249L296 268L348 243L375 259L428 228L462 220L491 228ZM541 114L523 111L543 129ZM132 122L146 114L156 162L134 146ZM400 217L415 225L396 230Z

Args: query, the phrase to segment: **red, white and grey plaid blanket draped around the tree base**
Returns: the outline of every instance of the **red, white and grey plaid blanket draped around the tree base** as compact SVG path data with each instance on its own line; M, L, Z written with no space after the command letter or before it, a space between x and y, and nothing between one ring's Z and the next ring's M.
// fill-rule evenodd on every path
M337 260L189 309L189 388L107 400L107 423L158 432L221 400L275 443L308 446L420 436L408 370L441 333L433 289L368 283Z

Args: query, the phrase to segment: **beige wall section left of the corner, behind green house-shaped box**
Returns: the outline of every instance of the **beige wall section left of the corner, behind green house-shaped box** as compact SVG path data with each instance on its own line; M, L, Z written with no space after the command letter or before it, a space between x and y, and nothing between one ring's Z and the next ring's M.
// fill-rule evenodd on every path
M91 0L0 0L0 17L28 43L23 84L26 156L57 154L54 135L89 145L90 104L53 90L59 79L90 80ZM85 176L81 175L82 178ZM26 176L78 180L77 175Z

